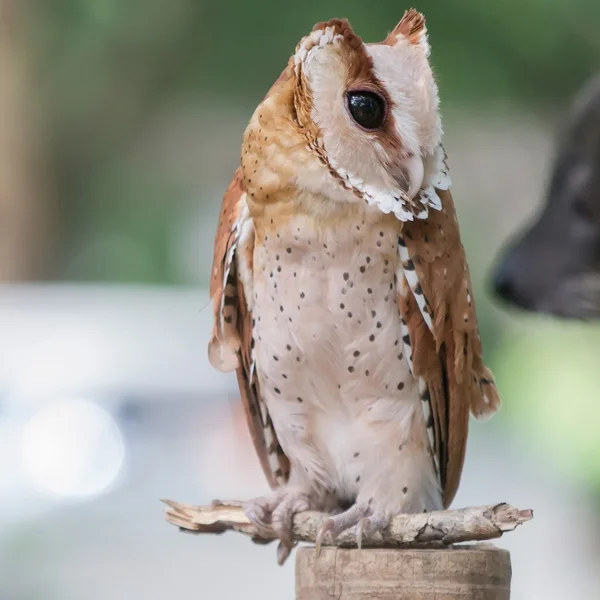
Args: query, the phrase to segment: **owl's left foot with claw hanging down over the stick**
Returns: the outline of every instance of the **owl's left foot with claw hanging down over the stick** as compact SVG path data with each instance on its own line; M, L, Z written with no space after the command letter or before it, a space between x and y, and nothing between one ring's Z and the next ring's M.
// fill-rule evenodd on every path
M308 494L295 490L283 489L249 500L243 505L246 516L257 527L259 532L268 536L274 531L280 540L277 548L277 561L283 564L294 547L292 529L294 515L315 508Z

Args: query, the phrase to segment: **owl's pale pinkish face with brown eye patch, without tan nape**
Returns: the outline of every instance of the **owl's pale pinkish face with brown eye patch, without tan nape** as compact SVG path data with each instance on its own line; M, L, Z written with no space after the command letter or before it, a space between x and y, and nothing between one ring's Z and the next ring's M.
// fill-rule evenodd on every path
M415 10L377 44L363 43L345 20L315 25L290 61L293 103L329 181L304 177L303 186L401 220L440 208L435 187L447 189L449 178L428 57L425 19Z

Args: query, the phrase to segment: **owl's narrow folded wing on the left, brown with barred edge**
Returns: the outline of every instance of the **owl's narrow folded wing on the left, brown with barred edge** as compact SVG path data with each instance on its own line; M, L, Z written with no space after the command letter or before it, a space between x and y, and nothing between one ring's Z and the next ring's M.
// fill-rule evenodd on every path
M290 468L254 369L253 252L254 227L238 169L223 198L215 239L210 280L214 327L208 355L216 369L235 369L252 442L269 485L275 488L287 481Z

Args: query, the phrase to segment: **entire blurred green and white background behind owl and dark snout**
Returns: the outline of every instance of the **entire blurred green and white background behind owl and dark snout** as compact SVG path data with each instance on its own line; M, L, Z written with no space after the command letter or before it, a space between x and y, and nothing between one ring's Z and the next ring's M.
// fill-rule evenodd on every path
M317 21L382 39L392 0L0 0L0 599L293 598L293 561L199 539L159 499L266 489L209 365L221 197L253 109ZM556 128L600 59L595 0L420 0L487 361L464 506L513 597L600 598L600 325L499 306L498 248L543 202Z

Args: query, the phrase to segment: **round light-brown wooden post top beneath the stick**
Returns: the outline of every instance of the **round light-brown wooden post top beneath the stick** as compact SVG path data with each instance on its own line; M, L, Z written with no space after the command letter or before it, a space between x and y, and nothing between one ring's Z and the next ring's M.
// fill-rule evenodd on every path
M511 574L510 553L491 544L298 548L296 600L509 600Z

